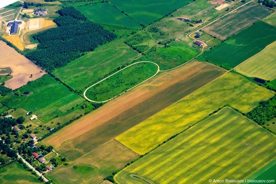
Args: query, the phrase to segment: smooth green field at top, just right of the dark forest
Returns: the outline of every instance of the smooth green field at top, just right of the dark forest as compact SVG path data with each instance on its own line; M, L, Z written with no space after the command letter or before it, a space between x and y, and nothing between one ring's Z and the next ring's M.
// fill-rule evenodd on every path
M135 20L123 14L109 3L97 3L88 6L76 7L89 20L100 24L114 24L130 28L141 27Z

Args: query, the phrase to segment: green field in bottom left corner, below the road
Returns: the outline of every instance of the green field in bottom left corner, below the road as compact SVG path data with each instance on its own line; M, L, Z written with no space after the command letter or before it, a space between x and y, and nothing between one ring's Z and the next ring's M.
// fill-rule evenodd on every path
M1 184L18 184L28 183L37 184L42 183L37 177L31 174L31 172L24 169L24 167L18 162L14 162L8 166L5 166L0 170L0 183Z

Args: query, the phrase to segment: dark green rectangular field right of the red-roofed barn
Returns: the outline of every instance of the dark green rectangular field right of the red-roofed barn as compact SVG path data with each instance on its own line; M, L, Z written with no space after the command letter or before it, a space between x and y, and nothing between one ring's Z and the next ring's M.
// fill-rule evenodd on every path
M275 35L276 29L273 26L259 21L204 53L202 57L228 69L234 68L273 43L276 40Z

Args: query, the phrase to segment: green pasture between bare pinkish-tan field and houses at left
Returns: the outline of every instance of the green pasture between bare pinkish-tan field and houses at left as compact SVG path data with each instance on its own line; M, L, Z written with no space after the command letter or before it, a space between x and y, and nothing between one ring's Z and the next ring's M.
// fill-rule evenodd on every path
M44 116L59 109L66 112L76 104L84 101L79 95L71 92L67 87L56 81L50 75L44 75L20 88L21 95L9 94L1 98L9 107L36 112L36 115ZM22 95L28 91L28 95Z

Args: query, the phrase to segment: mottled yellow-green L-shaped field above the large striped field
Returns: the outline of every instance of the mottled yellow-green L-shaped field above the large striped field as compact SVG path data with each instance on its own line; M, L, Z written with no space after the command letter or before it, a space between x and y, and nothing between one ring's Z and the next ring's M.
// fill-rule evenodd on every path
M224 105L249 112L259 101L268 100L274 94L238 74L227 73L116 137L116 140L138 154L145 154Z

